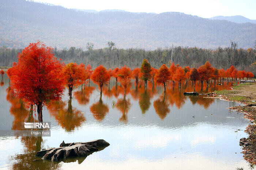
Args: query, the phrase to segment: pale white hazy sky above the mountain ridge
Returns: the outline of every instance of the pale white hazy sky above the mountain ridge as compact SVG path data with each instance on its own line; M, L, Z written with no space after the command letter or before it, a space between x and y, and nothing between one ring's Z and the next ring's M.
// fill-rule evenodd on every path
M122 9L129 12L184 12L203 18L242 15L256 19L256 0L34 0L66 8Z

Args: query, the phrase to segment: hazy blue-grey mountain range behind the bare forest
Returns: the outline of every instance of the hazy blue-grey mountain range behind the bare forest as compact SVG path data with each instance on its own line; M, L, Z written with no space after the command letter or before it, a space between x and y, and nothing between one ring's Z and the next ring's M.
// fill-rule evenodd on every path
M156 49L166 46L250 48L256 40L256 24L211 20L180 12L132 13L84 12L26 0L0 0L0 38L21 42L41 40L48 46Z

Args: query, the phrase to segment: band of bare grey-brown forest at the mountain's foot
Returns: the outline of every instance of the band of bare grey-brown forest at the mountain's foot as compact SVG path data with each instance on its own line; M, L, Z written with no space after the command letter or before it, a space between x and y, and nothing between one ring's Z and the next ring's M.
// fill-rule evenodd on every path
M231 50L232 49L232 50ZM22 49L0 47L0 66L11 66L17 62L17 54ZM236 47L218 47L215 50L197 47L158 48L156 50L144 49L118 49L113 42L104 49L93 49L93 43L87 44L87 50L70 47L69 49L53 49L55 57L61 58L65 63L76 62L90 64L93 68L104 65L115 68L127 65L132 69L140 67L146 58L152 67L159 68L162 64L170 66L171 60L180 66L199 67L209 61L213 67L227 69L234 65L238 70L246 70L256 74L256 47L249 49L236 49ZM232 53L232 55L231 55Z

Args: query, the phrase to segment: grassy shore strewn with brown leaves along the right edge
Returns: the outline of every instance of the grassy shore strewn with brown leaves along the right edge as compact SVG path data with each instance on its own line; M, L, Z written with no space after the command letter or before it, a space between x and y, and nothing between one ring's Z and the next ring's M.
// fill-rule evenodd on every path
M234 85L232 90L215 91L214 96L243 103L244 106L232 107L239 112L244 112L244 116L251 120L251 123L246 127L245 132L249 135L248 138L240 139L240 146L242 146L244 158L255 165L256 163L256 82L242 83Z

